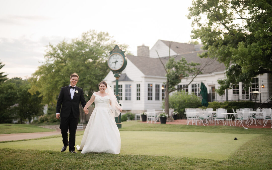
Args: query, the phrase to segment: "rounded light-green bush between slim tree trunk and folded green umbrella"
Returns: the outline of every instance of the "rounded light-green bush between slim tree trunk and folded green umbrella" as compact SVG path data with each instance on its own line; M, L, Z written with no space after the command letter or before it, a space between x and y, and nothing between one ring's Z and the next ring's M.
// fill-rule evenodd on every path
M201 106L201 100L199 97L194 94L188 94L188 92L183 90L169 95L169 108L173 108L178 112L178 118L186 118L186 115L184 114L185 108L198 108Z

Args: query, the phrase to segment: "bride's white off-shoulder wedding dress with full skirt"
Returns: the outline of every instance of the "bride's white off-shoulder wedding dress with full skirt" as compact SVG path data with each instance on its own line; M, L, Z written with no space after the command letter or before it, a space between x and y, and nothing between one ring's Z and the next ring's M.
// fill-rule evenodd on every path
M80 146L81 153L120 153L121 138L114 115L110 109L109 95L95 93L95 108L85 128Z

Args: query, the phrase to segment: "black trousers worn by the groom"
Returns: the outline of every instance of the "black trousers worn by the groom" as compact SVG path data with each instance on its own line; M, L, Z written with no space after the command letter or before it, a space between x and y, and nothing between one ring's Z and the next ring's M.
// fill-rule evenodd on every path
M68 118L60 118L60 129L62 135L63 145L66 146L69 142L69 151L75 150L76 143L76 128L78 127L78 118L75 118L73 111ZM69 141L68 141L68 129L69 129Z

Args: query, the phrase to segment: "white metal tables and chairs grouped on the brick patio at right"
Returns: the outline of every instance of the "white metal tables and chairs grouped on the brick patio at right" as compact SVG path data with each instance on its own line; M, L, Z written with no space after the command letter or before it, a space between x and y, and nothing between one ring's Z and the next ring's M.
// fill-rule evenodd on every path
M240 108L240 109L232 109L233 113L228 113L224 108L218 108L213 110L212 108L207 109L199 109L199 108L186 108L185 114L187 117L187 125L190 123L192 125L203 124L205 126L208 123L216 123L222 122L223 125L230 125L233 126L237 125L243 126L244 125L263 125L266 126L267 122L270 121L272 124L272 116L271 108L257 108L253 110L252 108ZM234 117L234 118L233 118ZM234 120L234 123L233 123ZM272 128L272 125L271 125Z

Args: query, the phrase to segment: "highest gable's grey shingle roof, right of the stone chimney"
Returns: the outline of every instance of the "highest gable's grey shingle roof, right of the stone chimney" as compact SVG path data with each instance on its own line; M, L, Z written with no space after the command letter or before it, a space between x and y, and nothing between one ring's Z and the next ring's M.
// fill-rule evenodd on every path
M174 41L162 41L167 47L171 47L171 50L175 51L177 54L184 54L187 52L195 51L194 44L180 43Z

